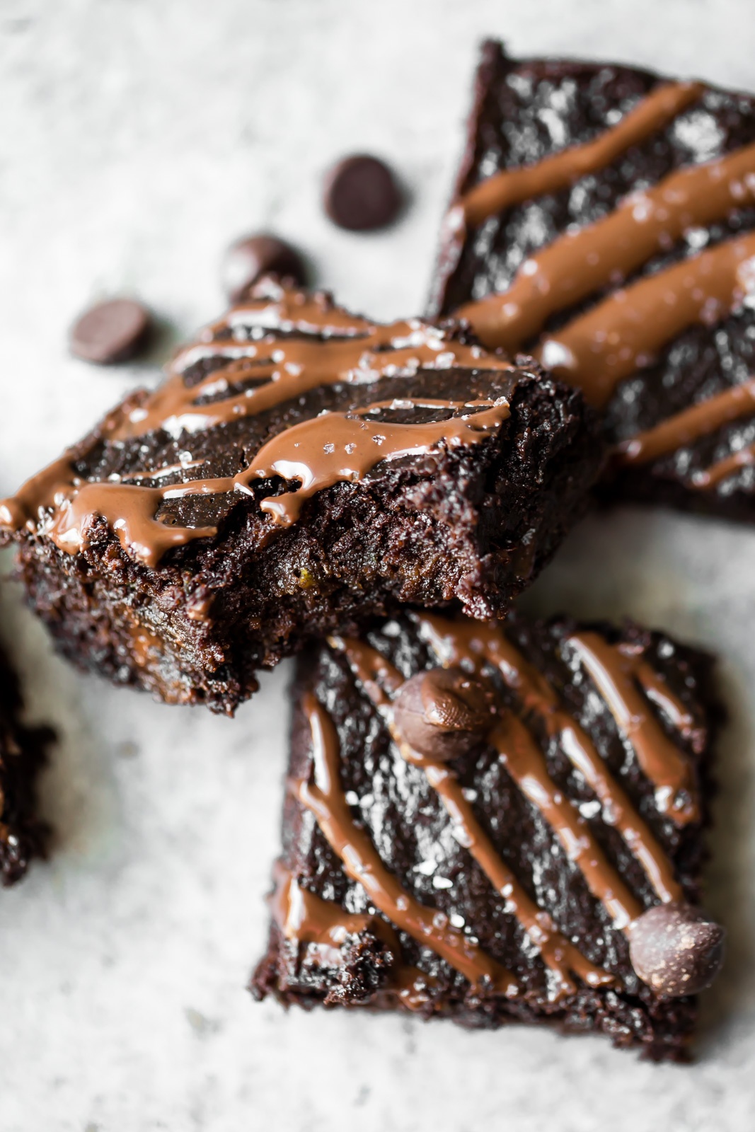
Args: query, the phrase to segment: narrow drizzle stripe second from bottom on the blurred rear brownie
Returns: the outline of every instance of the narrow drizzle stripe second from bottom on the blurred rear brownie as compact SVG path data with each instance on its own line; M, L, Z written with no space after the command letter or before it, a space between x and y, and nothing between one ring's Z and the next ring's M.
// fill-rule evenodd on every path
M755 413L755 378L717 393L707 401L684 409L654 428L640 432L617 446L615 461L619 465L649 464L701 436L709 436L730 421ZM707 473L698 473L701 475Z

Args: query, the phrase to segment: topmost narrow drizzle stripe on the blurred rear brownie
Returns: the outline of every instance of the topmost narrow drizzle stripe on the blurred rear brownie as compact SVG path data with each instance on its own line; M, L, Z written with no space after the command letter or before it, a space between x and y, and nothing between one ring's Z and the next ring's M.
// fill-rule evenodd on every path
M461 207L467 224L546 192L558 192L581 177L610 165L630 146L663 129L677 114L702 96L701 83L667 83L657 87L610 129L593 142L544 157L534 165L505 169L470 189Z

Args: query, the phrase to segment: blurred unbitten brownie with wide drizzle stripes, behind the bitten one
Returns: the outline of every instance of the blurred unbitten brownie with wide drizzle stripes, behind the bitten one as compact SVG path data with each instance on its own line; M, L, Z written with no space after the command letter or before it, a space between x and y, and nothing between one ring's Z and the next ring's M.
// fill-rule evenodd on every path
M430 303L604 413L607 498L755 518L755 100L483 45Z

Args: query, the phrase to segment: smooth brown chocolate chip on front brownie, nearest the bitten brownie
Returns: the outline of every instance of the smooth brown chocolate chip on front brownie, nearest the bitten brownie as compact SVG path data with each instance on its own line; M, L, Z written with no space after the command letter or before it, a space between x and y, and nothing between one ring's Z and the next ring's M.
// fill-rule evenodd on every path
M455 758L479 746L495 720L492 689L461 668L431 668L402 686L394 703L401 738L428 758Z

